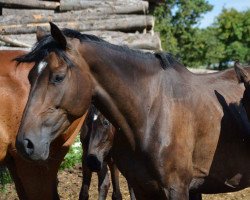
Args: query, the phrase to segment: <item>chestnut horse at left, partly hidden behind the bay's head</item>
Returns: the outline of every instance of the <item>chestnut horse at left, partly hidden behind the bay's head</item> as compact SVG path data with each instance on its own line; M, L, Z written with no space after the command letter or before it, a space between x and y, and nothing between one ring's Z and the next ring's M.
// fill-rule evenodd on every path
M84 118L75 121L64 135L51 144L47 161L32 163L17 154L16 134L30 90L28 74L34 64L21 64L17 67L13 59L25 53L0 51L0 163L8 167L19 199L59 199L57 171Z

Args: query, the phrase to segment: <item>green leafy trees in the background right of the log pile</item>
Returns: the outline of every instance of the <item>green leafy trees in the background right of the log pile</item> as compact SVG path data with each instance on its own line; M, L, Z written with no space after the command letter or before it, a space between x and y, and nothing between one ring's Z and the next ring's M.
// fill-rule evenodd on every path
M250 10L223 9L213 25L199 28L212 9L206 0L168 0L156 7L163 49L188 67L224 69L236 59L250 64Z

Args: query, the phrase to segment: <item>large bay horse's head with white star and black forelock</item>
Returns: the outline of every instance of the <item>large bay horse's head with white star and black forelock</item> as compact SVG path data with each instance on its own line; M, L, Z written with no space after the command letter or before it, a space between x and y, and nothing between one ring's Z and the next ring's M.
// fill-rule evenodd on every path
M36 62L29 75L31 91L16 141L17 149L27 158L47 159L50 143L90 105L93 81L79 53L81 42L74 34L80 33L61 31L51 23L51 35L16 59Z

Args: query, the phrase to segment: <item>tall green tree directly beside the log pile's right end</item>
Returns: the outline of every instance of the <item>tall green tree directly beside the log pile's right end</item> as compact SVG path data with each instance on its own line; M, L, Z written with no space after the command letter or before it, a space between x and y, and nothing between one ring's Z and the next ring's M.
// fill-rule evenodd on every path
M198 23L202 14L210 11L212 6L205 0L171 0L166 1L154 11L155 30L160 32L164 50L180 57L187 66L197 65L196 37ZM201 45L201 44L199 44Z

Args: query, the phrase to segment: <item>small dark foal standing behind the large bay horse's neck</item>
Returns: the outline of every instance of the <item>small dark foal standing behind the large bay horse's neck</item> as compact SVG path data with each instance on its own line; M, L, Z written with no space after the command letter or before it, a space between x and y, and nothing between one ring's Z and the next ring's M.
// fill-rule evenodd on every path
M112 200L122 199L119 170L111 158L114 133L115 128L112 124L94 106L91 106L81 131L83 184L80 199L89 197L93 171L98 175L99 199L106 199L110 187L107 166L110 169L113 186ZM132 188L129 185L128 188L131 199L135 200Z

